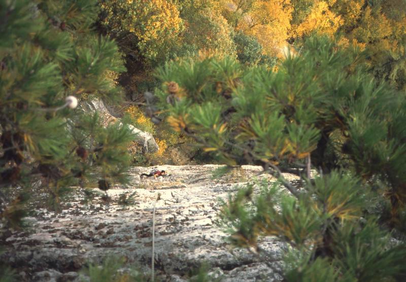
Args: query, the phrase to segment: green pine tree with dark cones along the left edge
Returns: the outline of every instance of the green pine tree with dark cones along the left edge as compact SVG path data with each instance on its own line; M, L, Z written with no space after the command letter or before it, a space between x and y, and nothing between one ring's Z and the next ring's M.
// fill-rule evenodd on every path
M89 0L0 0L0 219L10 226L44 189L58 209L72 186L127 181L129 129L76 107L89 94L120 97L108 77L124 67L94 31L97 13Z

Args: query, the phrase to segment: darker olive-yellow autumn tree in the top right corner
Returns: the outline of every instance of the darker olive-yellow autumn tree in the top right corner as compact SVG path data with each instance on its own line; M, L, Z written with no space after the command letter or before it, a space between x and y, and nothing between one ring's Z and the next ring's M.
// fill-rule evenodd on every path
M343 3L346 4L345 9ZM404 87L406 79L401 72L397 76L396 67L402 68L401 58L405 54L406 9L396 6L396 3L400 5L398 0L368 5L358 14L354 12L352 17L343 14L343 28L352 44L367 48L370 66L375 69L376 74L387 76L397 87ZM342 13L348 12L349 7L358 7L358 1L352 3L341 0L340 4ZM358 11L357 9L354 11ZM351 26L354 21L356 23Z

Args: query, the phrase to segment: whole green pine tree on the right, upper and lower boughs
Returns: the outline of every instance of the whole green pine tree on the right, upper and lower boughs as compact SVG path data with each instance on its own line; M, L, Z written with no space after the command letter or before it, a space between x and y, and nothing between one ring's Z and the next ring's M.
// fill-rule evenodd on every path
M254 196L248 186L221 219L234 244L259 254L261 236L289 243L288 281L406 274L405 245L389 236L404 226L406 102L364 61L355 47L312 37L277 72L215 55L157 70L156 95L176 130L230 165L262 165L287 189L260 183ZM302 188L283 172L297 174Z

